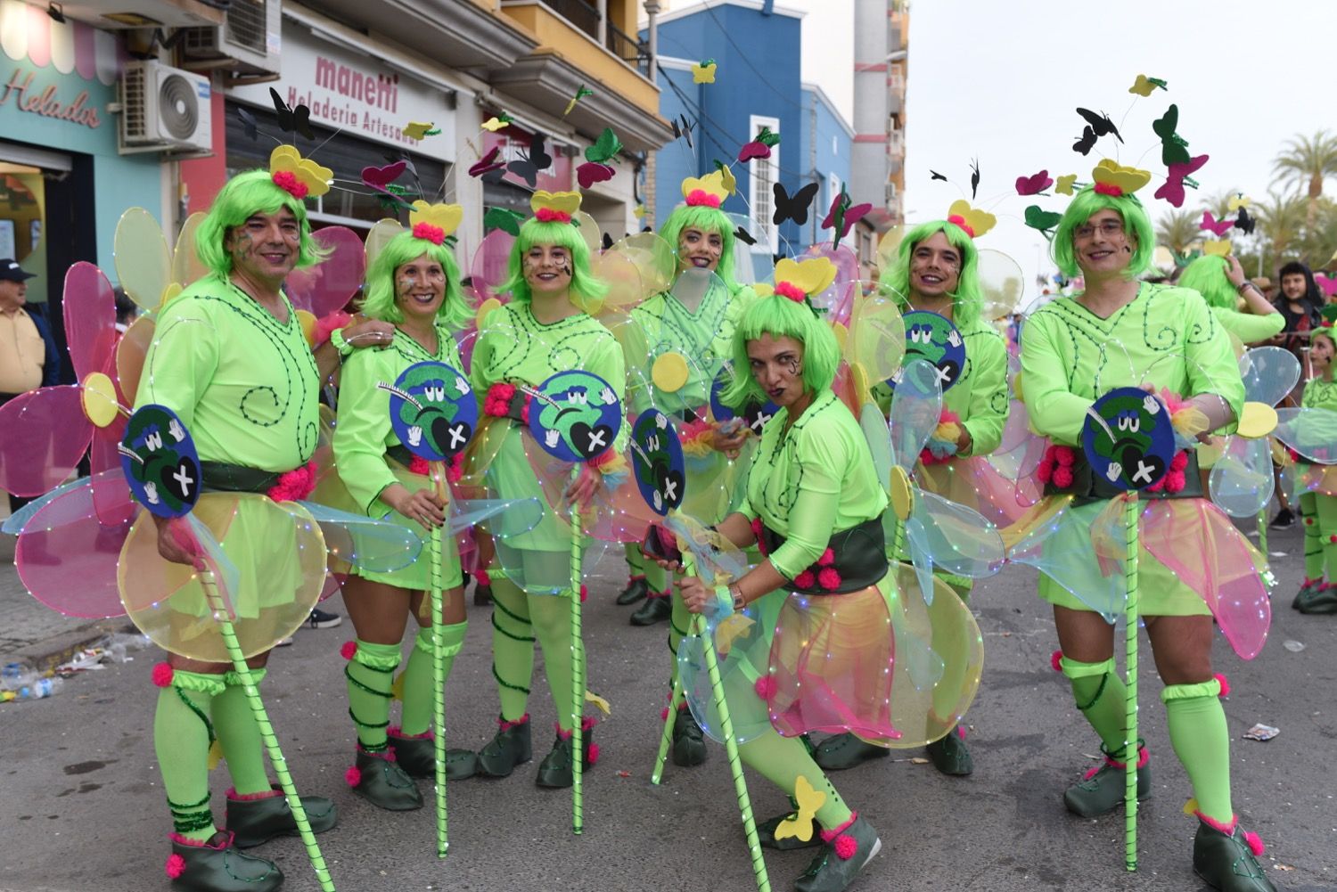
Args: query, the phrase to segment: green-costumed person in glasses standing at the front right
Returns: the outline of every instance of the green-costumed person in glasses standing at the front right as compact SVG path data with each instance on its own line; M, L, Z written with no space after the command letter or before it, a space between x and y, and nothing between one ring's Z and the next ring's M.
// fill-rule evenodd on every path
M1054 259L1066 275L1083 275L1086 292L1039 309L1021 337L1025 408L1032 427L1052 443L1040 465L1046 481L1040 514L1043 506L1067 497L1072 499L1070 512L1090 516L1087 511L1103 510L1115 495L1083 467L1079 445L1087 409L1102 393L1116 386L1169 392L1171 411L1177 401L1197 409L1206 419L1198 427L1206 431L1231 424L1241 411L1243 384L1230 341L1202 297L1138 281L1150 267L1154 247L1142 203L1119 183L1102 182L1100 169L1095 186L1079 193L1059 222ZM1226 582L1219 583L1217 596L1215 580L1227 578L1218 570L1221 562L1247 564L1250 558L1243 555L1249 550L1229 520L1202 497L1193 463L1181 461L1171 464L1159 491L1143 493L1148 507L1140 520L1139 606L1157 671L1166 685L1161 699L1170 742L1195 797L1194 871L1227 892L1270 891L1273 885L1250 851L1257 837L1243 833L1234 813L1230 737L1218 701L1222 685L1211 669L1213 614L1233 645L1235 623L1255 623L1253 641L1261 646L1266 596L1250 603L1251 619L1231 612L1227 602L1234 599L1227 596ZM1175 538L1152 534L1152 518L1166 518L1161 530L1174 526ZM1166 550L1158 540L1174 547ZM1079 572L1066 576L1068 587L1056 575L1042 574L1040 596L1054 604L1062 647L1056 667L1071 681L1078 709L1099 734L1106 754L1098 770L1068 788L1064 802L1083 817L1095 817L1122 804L1130 760L1139 768L1138 794L1148 796L1151 785L1146 748L1139 741L1131 752L1124 750L1124 686L1114 670L1114 627L1087 604L1108 574L1102 572L1094 550L1076 560L1090 560L1090 567L1074 566ZM1171 570L1170 563L1197 570ZM1237 575L1234 584L1250 594L1265 591L1257 582L1258 563L1261 558ZM1251 647L1246 650L1251 653Z

